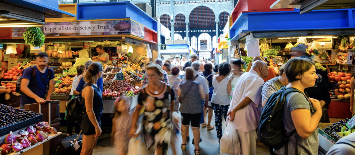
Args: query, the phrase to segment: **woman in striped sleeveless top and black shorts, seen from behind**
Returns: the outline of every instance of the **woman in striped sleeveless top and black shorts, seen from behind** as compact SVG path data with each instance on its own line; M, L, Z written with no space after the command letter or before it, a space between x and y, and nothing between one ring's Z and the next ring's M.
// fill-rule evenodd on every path
M194 81L196 74L192 67L185 70L185 81L180 84L178 96L180 97L180 109L182 116L181 136L182 150L186 150L187 132L191 122L193 137L195 140L195 154L200 154L200 118L202 115L201 99L205 98L202 85Z

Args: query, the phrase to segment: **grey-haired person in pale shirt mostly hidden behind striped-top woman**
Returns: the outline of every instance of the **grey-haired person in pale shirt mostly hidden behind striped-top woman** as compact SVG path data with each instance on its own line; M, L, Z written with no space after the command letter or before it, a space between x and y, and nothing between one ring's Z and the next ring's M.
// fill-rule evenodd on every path
M206 94L206 96L205 96L205 101L204 101L204 103L202 103L203 101L201 101L201 104L208 105L209 88L208 88L208 85L207 85L207 80L206 80L206 78L204 78L203 76L198 75L198 72L197 72L198 70L200 70L200 62L197 62L197 61L193 62L193 63L191 64L191 67L192 67L193 69L195 69L194 75L196 76L196 78L195 78L194 81L199 82L199 83L202 85L203 92L204 92L204 94ZM179 84L179 86L177 87L177 90L180 89L180 85L181 85L183 82L185 82L185 81L186 81L186 77L184 76L184 78L181 79L180 84ZM185 93L185 92L182 92L182 93ZM203 124L203 123L204 123L204 117L203 117L203 115L201 115L200 124ZM189 137L189 133L187 133L187 137ZM200 138L200 142L201 142L201 141L202 141L202 139ZM194 142L193 142L193 140L192 140L192 144L193 144L193 143L194 143Z

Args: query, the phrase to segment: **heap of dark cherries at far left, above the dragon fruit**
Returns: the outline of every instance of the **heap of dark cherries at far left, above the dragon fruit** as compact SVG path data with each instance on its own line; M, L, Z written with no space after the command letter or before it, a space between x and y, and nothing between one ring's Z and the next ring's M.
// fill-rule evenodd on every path
M35 116L42 115L33 111L25 111L11 106L0 104L0 127L8 126L16 122L31 119Z

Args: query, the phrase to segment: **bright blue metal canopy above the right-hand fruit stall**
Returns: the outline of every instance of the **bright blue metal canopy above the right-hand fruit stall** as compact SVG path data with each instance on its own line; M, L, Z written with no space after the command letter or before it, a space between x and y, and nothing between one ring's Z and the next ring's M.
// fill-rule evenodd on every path
M355 9L300 10L275 12L243 12L230 28L232 41L250 32L280 32L295 30L344 30L355 28ZM339 35L342 33L340 32Z

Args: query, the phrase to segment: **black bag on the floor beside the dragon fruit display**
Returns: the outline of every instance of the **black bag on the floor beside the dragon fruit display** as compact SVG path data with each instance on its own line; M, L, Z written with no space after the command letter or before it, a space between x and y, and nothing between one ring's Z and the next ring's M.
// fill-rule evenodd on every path
M82 148L82 139L83 135L81 131L79 134L74 134L72 136L66 137L58 143L55 151L51 155L80 155ZM80 146L77 150L73 147L73 144L77 140L78 145Z

